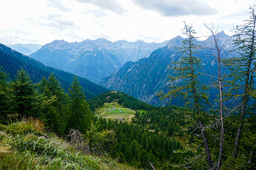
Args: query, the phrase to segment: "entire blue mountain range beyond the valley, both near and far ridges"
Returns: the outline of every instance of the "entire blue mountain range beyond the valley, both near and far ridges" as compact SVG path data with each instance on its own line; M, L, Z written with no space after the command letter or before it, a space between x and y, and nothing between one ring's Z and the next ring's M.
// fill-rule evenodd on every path
M225 46L225 50L228 51L232 37L225 35L223 31L216 36L222 37L219 45L229 40ZM183 40L181 36L162 44L148 44L140 40L111 42L97 39L71 43L55 40L42 46L30 57L57 69L84 76L93 82L98 82L105 89L126 92L149 104L163 106L167 105L169 100L160 101L156 93L160 90L168 91L171 82L167 77L174 75L168 66L170 62L177 61L181 57L176 47L181 46ZM203 46L212 45L212 37L204 41L195 41ZM146 53L151 51L153 52L148 56ZM146 56L143 56L144 54ZM200 49L198 54L203 62L202 71L205 73L201 81L205 84L211 83L207 75L217 74L217 65L212 54L213 51L209 48ZM233 53L228 53L225 57L232 55ZM210 94L210 99L213 100L216 91L212 88ZM94 92L89 96L93 95ZM177 98L169 104L183 106L184 101Z

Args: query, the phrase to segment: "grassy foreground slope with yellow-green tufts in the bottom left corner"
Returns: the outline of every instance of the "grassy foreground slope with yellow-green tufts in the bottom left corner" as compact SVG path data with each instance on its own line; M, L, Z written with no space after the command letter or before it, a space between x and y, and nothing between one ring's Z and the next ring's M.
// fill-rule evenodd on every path
M67 141L46 131L40 120L0 124L0 169L135 169L110 158L78 152Z

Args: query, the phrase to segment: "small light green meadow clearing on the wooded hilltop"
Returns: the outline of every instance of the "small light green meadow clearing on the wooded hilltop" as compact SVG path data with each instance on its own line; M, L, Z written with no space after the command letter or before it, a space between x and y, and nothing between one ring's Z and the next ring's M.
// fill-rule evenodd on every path
M95 113L97 117L110 118L118 121L131 121L135 111L129 108L123 108L117 102L112 102L105 103L103 107L96 109Z

